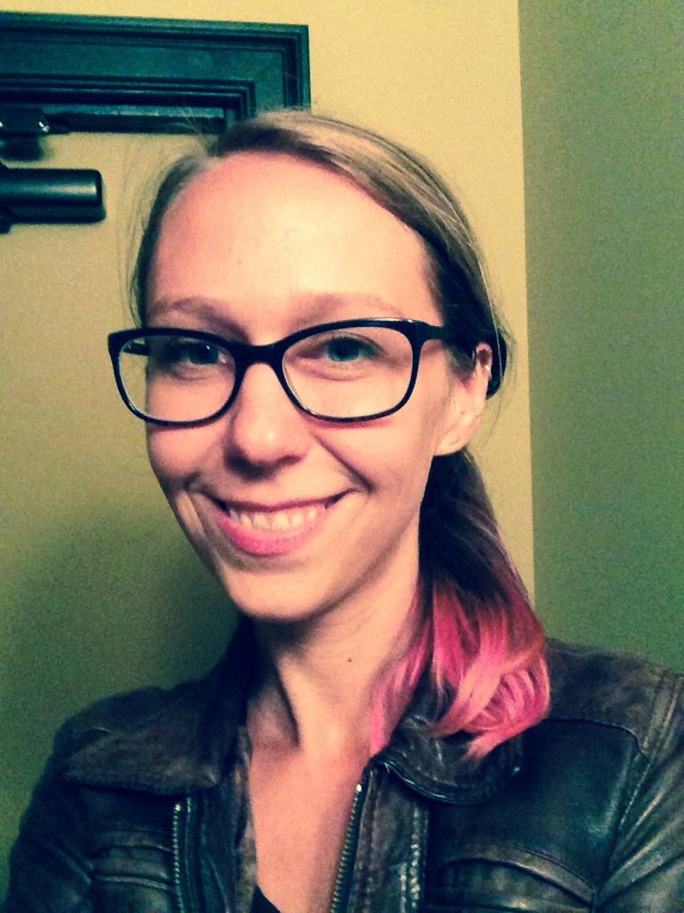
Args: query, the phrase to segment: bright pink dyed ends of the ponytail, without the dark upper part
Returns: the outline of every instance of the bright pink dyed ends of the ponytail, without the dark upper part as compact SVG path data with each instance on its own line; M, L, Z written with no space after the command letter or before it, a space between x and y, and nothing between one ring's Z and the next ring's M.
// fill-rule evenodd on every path
M523 591L508 606L469 613L456 593L435 586L430 603L409 650L380 690L371 753L388 743L427 671L440 710L428 734L468 732L468 757L477 761L545 716L544 631Z

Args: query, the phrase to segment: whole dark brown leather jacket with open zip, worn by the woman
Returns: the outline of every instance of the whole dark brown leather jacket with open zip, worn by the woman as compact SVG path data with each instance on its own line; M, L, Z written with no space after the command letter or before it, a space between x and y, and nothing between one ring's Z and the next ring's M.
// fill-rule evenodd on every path
M5 913L236 910L230 775L249 651L200 682L109 698L58 733ZM474 771L420 733L420 698L368 762L340 860L346 913L679 913L681 676L550 643L548 719Z

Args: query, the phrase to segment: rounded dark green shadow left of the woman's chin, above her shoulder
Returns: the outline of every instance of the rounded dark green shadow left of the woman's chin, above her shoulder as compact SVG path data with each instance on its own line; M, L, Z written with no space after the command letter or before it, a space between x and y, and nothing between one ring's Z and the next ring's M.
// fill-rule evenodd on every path
M78 524L46 526L39 558L13 582L0 644L3 861L62 720L117 691L202 675L235 622L172 521L102 505Z

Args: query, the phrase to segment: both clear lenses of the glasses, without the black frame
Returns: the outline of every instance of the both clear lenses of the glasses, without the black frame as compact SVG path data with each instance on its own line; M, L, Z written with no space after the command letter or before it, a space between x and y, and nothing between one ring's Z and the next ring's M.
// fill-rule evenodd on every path
M319 332L295 342L283 358L295 399L328 418L393 409L406 394L412 367L409 340L389 327ZM231 352L191 335L141 333L121 349L119 369L131 404L167 422L209 418L230 399L235 383Z

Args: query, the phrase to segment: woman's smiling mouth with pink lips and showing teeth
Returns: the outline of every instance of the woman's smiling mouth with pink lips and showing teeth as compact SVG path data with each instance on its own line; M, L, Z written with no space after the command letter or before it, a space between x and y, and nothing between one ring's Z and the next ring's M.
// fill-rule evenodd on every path
M281 555L295 551L312 539L342 497L339 494L276 506L214 499L216 523L238 551L250 555Z

